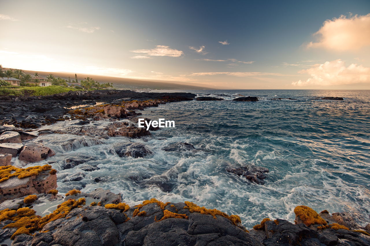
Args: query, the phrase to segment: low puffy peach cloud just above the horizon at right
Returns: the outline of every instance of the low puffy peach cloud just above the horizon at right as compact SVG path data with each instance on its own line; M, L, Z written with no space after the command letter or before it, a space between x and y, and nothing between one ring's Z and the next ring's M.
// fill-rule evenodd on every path
M346 66L344 61L337 59L324 64L315 64L309 69L299 71L300 74L309 74L306 81L296 81L292 85L348 85L355 83L370 83L370 68L351 64Z

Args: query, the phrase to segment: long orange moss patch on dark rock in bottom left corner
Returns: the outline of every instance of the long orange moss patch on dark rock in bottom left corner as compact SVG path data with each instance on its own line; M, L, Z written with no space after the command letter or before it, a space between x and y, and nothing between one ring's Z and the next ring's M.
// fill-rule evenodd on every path
M35 211L30 208L19 208L17 210L4 209L0 211L0 221L11 220L14 221L3 227L6 228L17 228L16 232L11 236L10 239L14 239L15 236L20 234L31 235L31 232L36 230L42 230L43 227L56 219L64 218L68 213L74 209L79 208L86 202L85 198L80 198L77 201L74 199L68 199L57 206L57 209L53 213L50 213L44 217L35 215Z

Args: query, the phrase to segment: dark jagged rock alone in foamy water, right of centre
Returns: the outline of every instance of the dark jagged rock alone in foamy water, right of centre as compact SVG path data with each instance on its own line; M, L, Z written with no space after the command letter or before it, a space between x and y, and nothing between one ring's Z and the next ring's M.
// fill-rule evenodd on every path
M240 168L226 167L226 171L238 176L242 176L250 182L256 184L265 184L263 180L266 178L265 173L269 172L269 169L266 167L258 167L256 165L248 165Z

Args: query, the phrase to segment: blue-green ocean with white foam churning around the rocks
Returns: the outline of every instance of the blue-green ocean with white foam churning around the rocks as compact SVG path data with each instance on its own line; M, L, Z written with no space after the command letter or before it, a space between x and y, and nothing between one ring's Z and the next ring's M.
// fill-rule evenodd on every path
M46 146L54 143L57 155L43 162L56 161L52 165L58 170L59 191L105 188L121 192L130 205L150 198L192 201L239 215L247 228L266 217L293 222L297 205L310 206L317 212L346 211L361 226L368 223L370 90L185 92L225 100L175 102L138 110L152 120L174 120L176 126L151 131L151 137L142 139L113 137L101 145L65 151L58 148L55 139L63 142L63 138L70 136L40 136ZM259 101L231 101L240 95L258 96ZM317 99L324 96L344 100ZM276 100L279 98L297 100ZM65 123L48 127L61 124ZM145 144L154 155L120 158L110 151L120 141ZM162 150L178 142L190 143L196 151ZM81 155L93 157L86 164L95 164L100 169L60 168L65 158ZM264 185L250 183L225 170L228 166L249 164L269 168ZM83 179L66 179L76 173L82 173ZM96 183L95 177L105 181Z

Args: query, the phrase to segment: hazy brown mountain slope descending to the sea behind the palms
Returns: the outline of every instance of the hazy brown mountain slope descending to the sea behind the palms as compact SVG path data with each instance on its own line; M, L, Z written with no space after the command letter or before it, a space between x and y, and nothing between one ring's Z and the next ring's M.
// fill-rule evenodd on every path
M68 72L42 72L42 71L30 71L24 70L27 74L34 74L37 72L40 76L46 77L48 74L53 74L55 77L61 77L63 79L71 78L74 79L74 73ZM166 89L166 90L202 90L202 89L219 89L213 86L203 85L200 83L187 83L187 82L176 82L176 81L161 81L161 80L144 80L144 79L129 79L129 78L118 78L92 74L77 74L78 81L84 80L86 77L90 77L100 83L113 83L116 89Z

